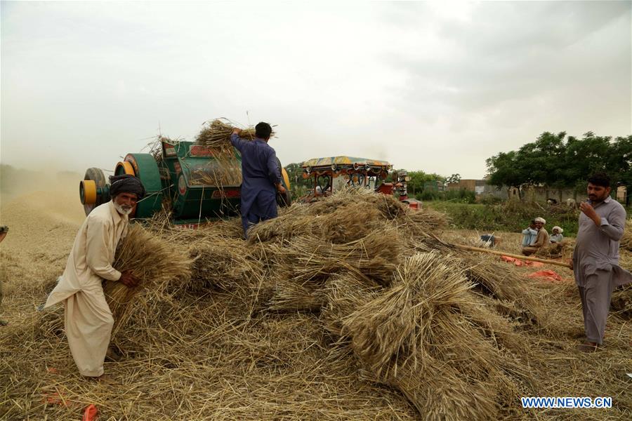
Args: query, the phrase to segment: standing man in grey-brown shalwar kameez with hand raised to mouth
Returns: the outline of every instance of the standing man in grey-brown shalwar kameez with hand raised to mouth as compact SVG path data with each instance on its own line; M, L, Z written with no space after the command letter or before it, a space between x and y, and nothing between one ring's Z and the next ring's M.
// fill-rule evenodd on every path
M603 343L612 290L632 282L632 274L619 267L619 239L626 225L626 210L610 198L607 175L588 178L588 201L581 203L579 209L572 263L586 340L578 348L592 352Z

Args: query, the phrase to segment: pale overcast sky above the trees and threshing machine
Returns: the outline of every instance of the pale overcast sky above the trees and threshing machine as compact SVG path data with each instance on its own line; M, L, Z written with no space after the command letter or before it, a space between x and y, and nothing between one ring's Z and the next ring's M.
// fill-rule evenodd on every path
M630 1L1 3L1 162L114 169L160 132L482 178L543 131L632 134Z

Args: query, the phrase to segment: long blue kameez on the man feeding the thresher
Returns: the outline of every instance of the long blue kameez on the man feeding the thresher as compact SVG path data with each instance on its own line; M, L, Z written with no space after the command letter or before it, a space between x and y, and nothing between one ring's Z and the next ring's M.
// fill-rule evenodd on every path
M260 193L276 196L281 182L277 153L265 140L246 140L231 135L230 142L242 154L242 215L248 215Z

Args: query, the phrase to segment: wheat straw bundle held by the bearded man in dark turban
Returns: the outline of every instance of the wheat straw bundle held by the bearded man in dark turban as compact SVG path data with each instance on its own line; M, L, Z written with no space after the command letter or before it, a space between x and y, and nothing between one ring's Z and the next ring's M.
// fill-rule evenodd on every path
M112 266L129 270L139 279L138 286L128 288L119 281L105 283L105 298L114 316L112 335L133 313L133 299L140 292L164 295L185 286L190 279L192 261L187 253L161 239L140 225L131 225L121 241Z

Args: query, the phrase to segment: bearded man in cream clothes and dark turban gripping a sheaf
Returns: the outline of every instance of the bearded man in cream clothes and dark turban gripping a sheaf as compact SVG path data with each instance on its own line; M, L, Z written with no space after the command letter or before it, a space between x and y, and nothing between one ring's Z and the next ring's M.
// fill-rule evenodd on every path
M128 215L145 195L143 183L133 175L110 177L112 200L97 206L81 225L64 273L48 296L46 305L64 303L64 325L72 358L79 373L103 380L103 361L114 319L105 302L103 280L128 287L138 279L129 271L112 267L119 241L127 234Z

